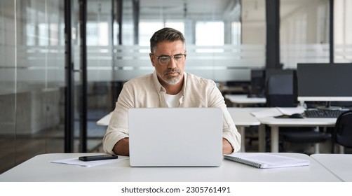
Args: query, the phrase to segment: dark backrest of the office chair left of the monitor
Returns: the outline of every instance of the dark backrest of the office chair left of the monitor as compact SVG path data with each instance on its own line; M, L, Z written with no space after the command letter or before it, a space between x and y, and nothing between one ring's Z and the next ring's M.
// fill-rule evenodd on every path
M269 107L295 107L295 84L292 74L272 75L266 81L266 103Z

